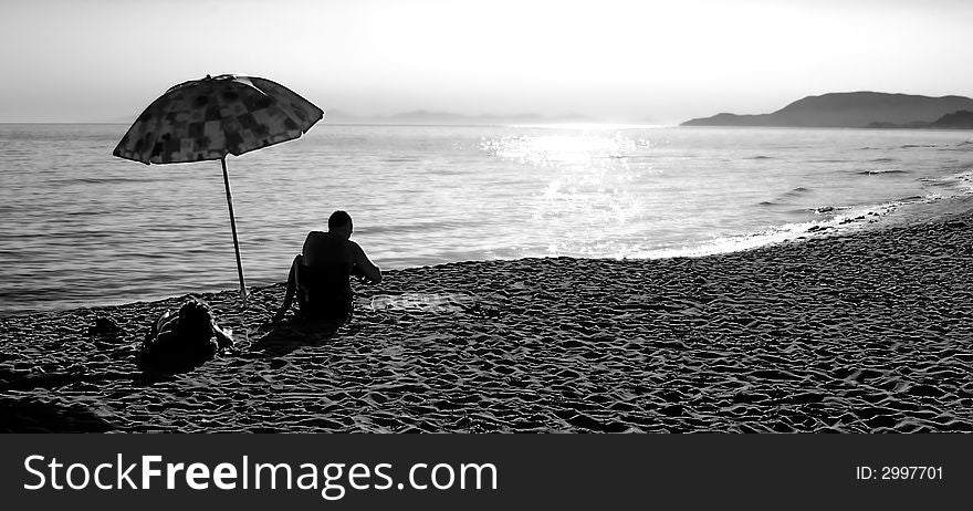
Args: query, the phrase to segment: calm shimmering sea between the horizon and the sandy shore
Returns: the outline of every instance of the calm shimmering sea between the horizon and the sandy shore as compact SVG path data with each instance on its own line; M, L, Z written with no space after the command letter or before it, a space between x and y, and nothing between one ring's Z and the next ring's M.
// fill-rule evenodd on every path
M234 289L219 161L112 150L127 125L0 124L0 315ZM318 123L228 160L247 283L347 210L385 270L659 258L851 229L970 194L953 131Z

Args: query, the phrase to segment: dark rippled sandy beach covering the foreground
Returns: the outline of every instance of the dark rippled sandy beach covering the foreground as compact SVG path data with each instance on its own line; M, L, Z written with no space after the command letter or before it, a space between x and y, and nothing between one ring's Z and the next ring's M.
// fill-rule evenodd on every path
M134 354L181 299L9 317L0 429L973 431L971 272L964 213L703 258L393 271L331 334L268 330L278 284L242 312L203 294L239 351L176 375ZM100 315L124 333L90 334Z

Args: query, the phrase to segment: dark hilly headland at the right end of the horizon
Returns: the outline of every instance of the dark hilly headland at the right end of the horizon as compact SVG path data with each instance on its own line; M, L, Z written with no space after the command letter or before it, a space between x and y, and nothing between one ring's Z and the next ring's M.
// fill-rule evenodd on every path
M772 114L718 114L681 126L973 128L973 98L880 92L807 96Z

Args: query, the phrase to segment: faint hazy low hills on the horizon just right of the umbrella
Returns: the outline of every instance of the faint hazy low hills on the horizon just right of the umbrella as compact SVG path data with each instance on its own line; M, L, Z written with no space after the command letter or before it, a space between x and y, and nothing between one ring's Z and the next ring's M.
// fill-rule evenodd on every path
M545 117L540 114L463 115L425 109L383 116L355 116L344 111L327 109L325 119L339 124L414 124L414 125L489 125L489 124L580 124L598 121L585 115L569 114Z

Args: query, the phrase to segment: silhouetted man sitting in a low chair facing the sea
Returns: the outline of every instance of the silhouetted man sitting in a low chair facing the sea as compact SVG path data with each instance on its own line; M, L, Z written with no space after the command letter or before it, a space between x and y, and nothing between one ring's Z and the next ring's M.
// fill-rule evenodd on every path
M284 303L273 317L276 323L291 309L294 296L301 315L311 320L345 323L352 317L352 275L369 283L381 282L381 271L352 237L352 217L335 211L327 219L327 232L311 231L302 253L287 274Z

